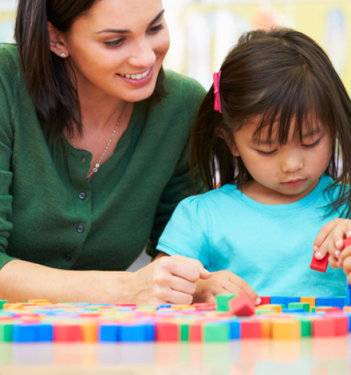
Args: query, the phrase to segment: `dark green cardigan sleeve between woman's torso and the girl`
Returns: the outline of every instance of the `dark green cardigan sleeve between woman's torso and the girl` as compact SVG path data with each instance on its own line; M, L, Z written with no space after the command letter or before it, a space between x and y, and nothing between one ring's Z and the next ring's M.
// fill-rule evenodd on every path
M197 86L197 90L195 92L192 92L192 95L189 94L190 93L185 93L185 95L183 95L183 105L181 108L181 110L185 111L187 120L189 121L189 126L187 128L187 142L185 143L183 152L180 154L180 158L178 159L178 164L173 173L173 176L164 188L161 199L159 200L159 204L157 206L157 212L154 216L154 225L149 242L146 246L146 252L152 258L156 257L157 254L159 254L159 251L157 251L156 249L159 237L161 237L161 234L164 231L164 228L166 227L166 224L171 218L172 213L176 209L178 203L186 197L194 195L194 187L192 185L189 164L190 133L197 116L199 105L201 103L201 100L204 98L205 91L204 88L199 85ZM199 177L199 174L197 174L195 182L197 193L206 191L204 183Z

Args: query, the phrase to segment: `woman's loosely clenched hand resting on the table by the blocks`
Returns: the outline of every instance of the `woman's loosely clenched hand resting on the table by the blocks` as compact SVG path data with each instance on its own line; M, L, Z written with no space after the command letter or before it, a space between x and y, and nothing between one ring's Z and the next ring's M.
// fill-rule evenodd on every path
M126 287L132 303L190 304L197 289L196 282L209 279L211 273L196 259L161 254L149 265L131 273L130 277Z

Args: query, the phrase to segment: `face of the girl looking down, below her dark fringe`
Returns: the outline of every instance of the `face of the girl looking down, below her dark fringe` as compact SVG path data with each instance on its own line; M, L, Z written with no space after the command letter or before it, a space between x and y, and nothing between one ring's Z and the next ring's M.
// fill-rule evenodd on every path
M296 202L318 185L320 176L326 171L333 143L329 131L316 121L312 122L312 131L305 124L301 142L299 136L294 137L294 121L286 145L275 141L274 130L270 145L267 128L260 134L260 143L255 142L253 134L259 119L234 133L234 145L230 147L234 156L241 157L253 177L248 183L253 199L258 197L266 204Z

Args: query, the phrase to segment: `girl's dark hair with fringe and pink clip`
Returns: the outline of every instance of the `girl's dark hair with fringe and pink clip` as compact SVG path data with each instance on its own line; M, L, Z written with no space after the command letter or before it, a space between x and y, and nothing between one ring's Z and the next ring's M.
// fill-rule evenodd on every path
M312 113L329 128L332 156L325 173L342 187L331 211L351 216L351 101L323 49L293 29L255 30L243 34L223 62L220 101L223 114L213 110L213 86L206 94L192 135L192 171L199 169L208 189L219 184L241 187L252 179L240 157L234 157L216 129L232 136L248 120L260 117L255 137L268 127L272 137L279 122L277 141L286 144L293 118L302 140L303 124ZM311 121L309 121L311 122ZM307 124L312 128L312 124ZM310 130L310 129L308 129ZM219 180L218 180L219 176Z

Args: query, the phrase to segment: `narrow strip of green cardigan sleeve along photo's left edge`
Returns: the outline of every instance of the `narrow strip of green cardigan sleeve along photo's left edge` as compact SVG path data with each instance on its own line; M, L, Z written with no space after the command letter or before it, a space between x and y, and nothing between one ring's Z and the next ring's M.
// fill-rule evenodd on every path
M1 65L6 65L7 56L1 53ZM12 117L15 115L11 110L11 88L5 77L6 70L0 70L0 268L15 258L6 254L8 237L12 230L11 213L12 197L10 187L13 173L11 171L11 157L13 144L13 130L11 126Z

